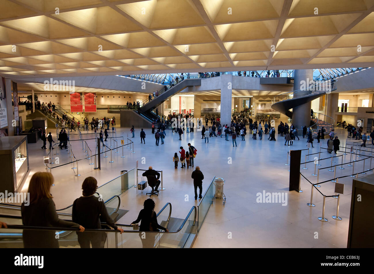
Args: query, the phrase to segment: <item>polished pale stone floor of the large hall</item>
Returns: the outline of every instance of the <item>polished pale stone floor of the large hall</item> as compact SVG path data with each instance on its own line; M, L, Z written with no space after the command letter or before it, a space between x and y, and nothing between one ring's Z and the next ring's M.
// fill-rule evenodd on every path
M134 141L135 153L131 153L126 148L124 148L125 158L120 158L122 150L120 150L121 153L113 153L114 163L108 163L110 161L110 154L108 154L108 158L101 158L101 170L93 170L88 160L79 165L79 173L82 175L79 177L74 176L72 164L52 169L55 177L52 195L56 208L72 204L74 199L81 195L81 185L87 176L94 176L99 185L102 185L119 176L120 170L134 168L136 161L139 160L140 169L153 166L156 170L163 170L163 186L166 190L160 191L158 197L152 196L156 202L156 212L170 202L172 217L185 218L191 207L197 205L199 201L194 200L191 179L193 169L181 169L179 166L175 170L172 157L175 152L179 151L180 146L187 148L187 143L191 142L197 148L194 165L200 166L205 177L203 192L214 176L222 177L226 180L224 194L227 198L224 206L221 200L216 200L212 204L193 247L346 247L353 178L339 180L340 183L345 184L344 195L340 198L339 216L343 218L341 221L331 218L336 214L337 205L337 199L332 197L326 198L325 218L328 222L318 220L318 217L322 215L322 195L315 190L313 203L316 207L307 206L306 203L310 201L311 186L305 179L301 179L303 193L288 191L289 172L288 166L284 165L287 151L290 148L295 150L306 148L306 139L294 141L293 146L284 146L284 138L280 135L276 135L276 142L270 142L267 140L268 135L264 135L261 141L258 138L257 140L251 139L251 135L248 134L246 141L241 141L239 136L237 147L232 147L231 139L227 142L220 137L209 138L209 144L205 144L200 132L185 133L182 135L182 141L179 141L176 133L167 130L165 144L161 145L160 142L159 147L156 147L150 129L145 130L147 134L145 145L139 142L140 129L135 130L135 138L129 137ZM54 133L53 130L51 131L55 139L56 131L55 129ZM247 132L249 133L249 130ZM338 133L341 145L344 145L346 141L350 144L355 141L346 138L345 130L335 130L335 132ZM118 142L122 139L119 136L126 137L126 134L131 136L129 129L117 127ZM93 138L92 135L83 136ZM77 135L72 135L71 139L77 139ZM326 147L326 142L327 140L322 143L322 147ZM96 143L93 140L87 140L87 143L91 150L95 148ZM80 141L71 141L71 144L76 158L86 157L81 150ZM314 145L315 148L310 148L310 153L319 151L319 144L315 141ZM27 191L28 182L34 172L45 170L42 156L45 156L49 150L41 150L41 146L40 140L37 144L28 145L30 171L22 183L22 191ZM57 150L60 164L67 163L69 161L67 151ZM303 151L302 162L305 154L306 151ZM338 152L337 155L340 154L342 152ZM321 153L321 158L328 157L327 155L330 154ZM367 155L370 155L370 152ZM142 157L144 157L145 164L142 164ZM231 163L229 157L232 158ZM311 159L313 160L313 157ZM338 159L338 163L341 163L341 157ZM349 155L344 156L343 161L349 161ZM327 167L330 163L330 160L323 160L320 168ZM316 177L311 176L314 172L314 164L308 163L307 167L307 170L300 169L301 173L315 183ZM374 167L374 163L371 167ZM344 168L344 170L337 169L336 175L343 176L352 173L352 167L345 165ZM361 172L362 168L362 161L355 166L357 172ZM365 164L365 169L369 169L368 162ZM319 182L332 179L333 175L333 172L321 171ZM334 183L322 184L319 190L325 195L332 195ZM280 203L257 203L256 194L263 191L287 193L287 206L282 206ZM189 196L188 201L185 200L186 194ZM120 197L120 208L129 210L129 212L118 223L130 224L137 218L147 197L145 192L141 194L135 188L131 188ZM318 238L315 238L316 233L318 233ZM232 238L228 237L229 234Z

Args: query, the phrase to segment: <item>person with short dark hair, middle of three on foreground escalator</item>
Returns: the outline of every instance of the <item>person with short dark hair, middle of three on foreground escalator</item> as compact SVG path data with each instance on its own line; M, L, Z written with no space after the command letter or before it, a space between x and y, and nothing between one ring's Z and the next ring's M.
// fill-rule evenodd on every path
M82 197L73 203L72 221L83 225L87 229L101 229L101 221L110 227L123 233L123 229L116 226L110 218L104 201L94 196L97 190L97 181L93 177L87 177L82 184ZM104 248L107 234L104 232L77 232L80 248Z

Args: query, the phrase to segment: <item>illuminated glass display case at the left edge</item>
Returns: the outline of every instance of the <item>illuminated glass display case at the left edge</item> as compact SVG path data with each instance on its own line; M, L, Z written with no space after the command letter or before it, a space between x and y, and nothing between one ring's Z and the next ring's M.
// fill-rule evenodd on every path
M15 192L28 169L27 136L0 138L0 192Z

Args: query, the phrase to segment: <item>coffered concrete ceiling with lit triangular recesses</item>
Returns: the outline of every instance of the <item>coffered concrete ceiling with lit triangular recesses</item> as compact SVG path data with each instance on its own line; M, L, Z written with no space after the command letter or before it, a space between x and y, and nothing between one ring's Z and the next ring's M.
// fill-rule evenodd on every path
M1 0L0 8L0 74L9 78L374 64L374 0Z

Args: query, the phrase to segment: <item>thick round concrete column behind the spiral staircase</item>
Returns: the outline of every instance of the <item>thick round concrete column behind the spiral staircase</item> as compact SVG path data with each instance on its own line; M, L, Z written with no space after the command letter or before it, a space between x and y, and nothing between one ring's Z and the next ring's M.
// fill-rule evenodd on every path
M311 91L309 90L302 90L297 92L300 89L304 89L304 87L310 86L310 81L313 80L313 69L308 70L295 70L294 71L294 98L305 96ZM311 109L312 102L308 102L303 105L299 105L292 109L292 124L297 129L300 129L303 126L310 126L310 109Z

